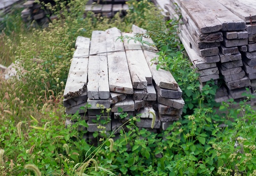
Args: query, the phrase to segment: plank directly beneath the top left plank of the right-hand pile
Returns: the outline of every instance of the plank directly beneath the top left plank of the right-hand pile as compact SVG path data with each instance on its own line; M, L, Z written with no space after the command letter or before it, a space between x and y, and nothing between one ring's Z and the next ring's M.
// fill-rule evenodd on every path
M203 34L198 27L195 25L190 16L185 12L183 8L180 8L182 14L182 20L184 24L187 26L189 32L191 33L192 38L196 41L199 39L201 42L212 43L212 42L221 42L223 41L222 32L213 32Z

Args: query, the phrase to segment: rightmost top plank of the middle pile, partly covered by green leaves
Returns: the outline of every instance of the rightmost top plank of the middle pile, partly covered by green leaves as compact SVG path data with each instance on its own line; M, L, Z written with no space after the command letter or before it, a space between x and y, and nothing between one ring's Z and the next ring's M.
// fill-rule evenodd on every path
M151 60L157 57L156 53L148 50L144 50L143 52L156 84L164 89L178 90L179 85L171 73L162 69L157 70L157 66L151 63Z

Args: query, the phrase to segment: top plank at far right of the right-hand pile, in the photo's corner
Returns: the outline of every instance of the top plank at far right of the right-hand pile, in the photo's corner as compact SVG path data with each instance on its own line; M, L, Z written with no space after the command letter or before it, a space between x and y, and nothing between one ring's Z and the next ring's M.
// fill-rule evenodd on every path
M256 21L256 4L252 0L218 0L232 13L240 17L246 23L250 23L250 18L253 22Z

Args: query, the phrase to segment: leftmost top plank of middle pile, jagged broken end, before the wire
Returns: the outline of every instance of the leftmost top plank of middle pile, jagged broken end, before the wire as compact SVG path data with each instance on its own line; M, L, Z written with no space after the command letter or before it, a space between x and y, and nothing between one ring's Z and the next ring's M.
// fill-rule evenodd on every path
M88 58L73 58L64 89L64 98L80 96L86 91Z

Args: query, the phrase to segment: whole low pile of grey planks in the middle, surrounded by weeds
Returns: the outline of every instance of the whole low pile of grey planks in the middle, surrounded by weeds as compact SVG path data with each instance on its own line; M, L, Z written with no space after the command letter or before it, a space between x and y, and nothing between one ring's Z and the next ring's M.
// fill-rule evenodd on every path
M133 25L133 32L138 31L142 29ZM182 91L170 72L157 71L151 63L157 57L155 48L133 40L122 42L117 40L120 36L134 36L134 33L121 33L113 27L93 31L91 40L77 38L64 90L66 114L78 112L87 121L89 132L101 130L97 126L106 120L107 108L111 108L110 121L103 124L107 131L127 121L121 119L120 108L129 116L140 114L138 127L166 129L181 117ZM149 38L145 40L153 42ZM87 103L91 106L85 112L81 107ZM100 120L96 115L102 115ZM66 124L71 123L70 119L66 120Z

